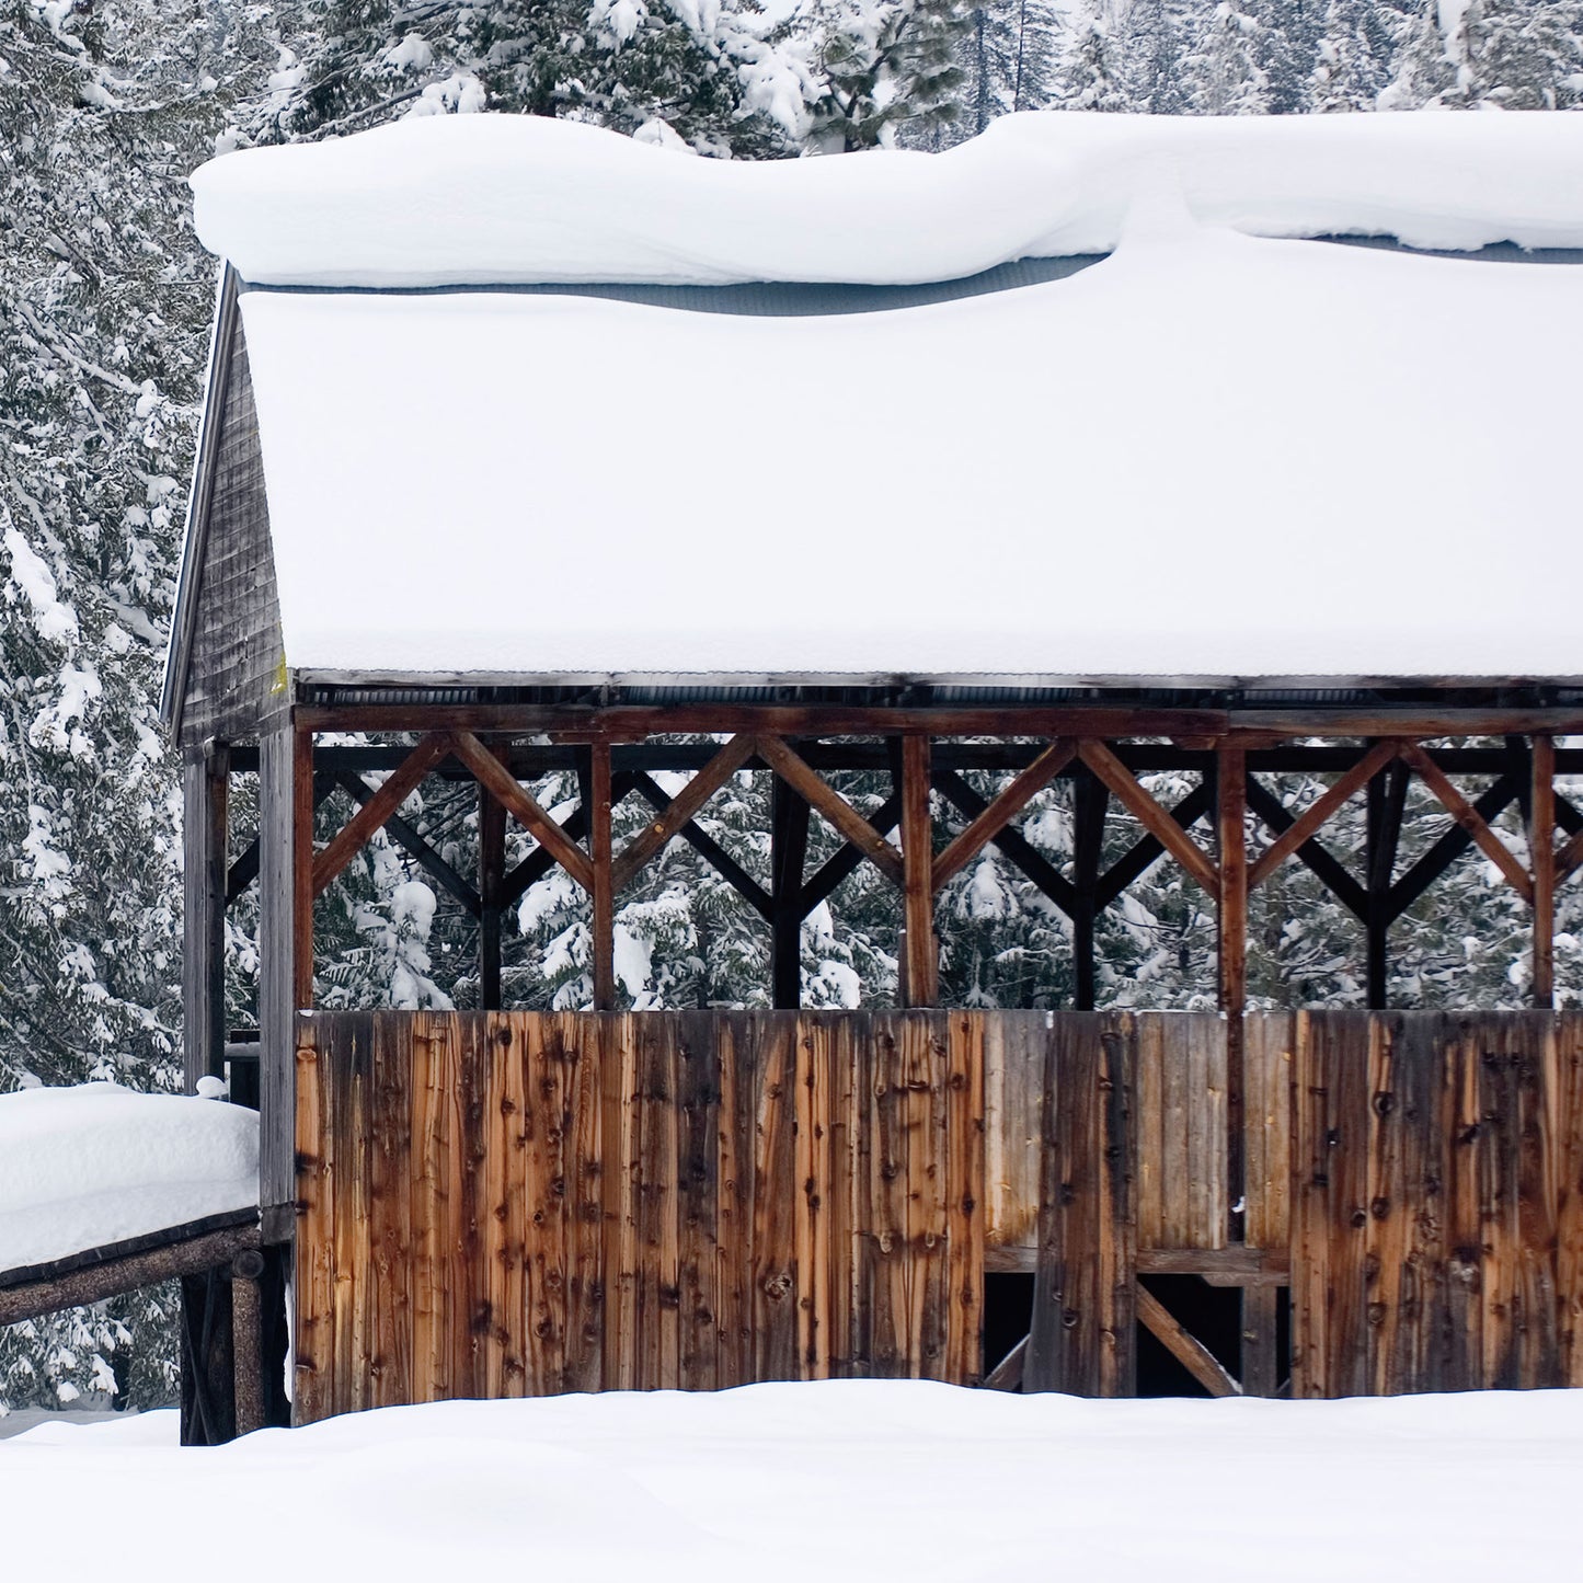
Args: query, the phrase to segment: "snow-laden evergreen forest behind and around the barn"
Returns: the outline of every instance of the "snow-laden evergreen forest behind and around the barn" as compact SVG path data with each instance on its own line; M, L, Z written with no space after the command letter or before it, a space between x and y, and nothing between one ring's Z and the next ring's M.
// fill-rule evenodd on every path
M0 0L0 1091L180 1083L180 804L157 697L214 296L185 177L209 155L481 109L784 158L942 149L1016 109L1580 103L1583 0ZM951 396L855 377L872 402ZM1279 790L1312 795L1295 777ZM885 787L855 777L847 792L877 801ZM1046 792L1023 826L1057 864L1069 801ZM768 788L739 776L704 814L755 872L766 807ZM416 818L464 871L473 820L470 799L443 793ZM1330 837L1342 850L1361 844L1360 810L1349 820ZM1439 828L1409 820L1404 861ZM1521 845L1515 820L1507 834ZM1114 848L1133 836L1113 812ZM1464 860L1398 924L1403 1004L1520 1004L1526 920L1491 874ZM556 879L529 891L508 1004L583 1004L579 907ZM860 871L810 918L807 1004L893 997L894 909ZM1566 909L1559 974L1577 999L1583 909ZM250 928L244 909L237 1026ZM469 1005L472 928L378 841L321 907L320 999ZM1102 928L1102 999L1213 1004L1213 917L1170 864ZM763 1004L763 928L690 848L646 871L619 931L633 1004ZM943 898L940 932L950 1002L1065 1004L1064 918L993 848ZM1358 1002L1360 978L1355 928L1289 864L1258 893L1255 994ZM0 1331L0 1410L114 1380L136 1403L169 1399L173 1304L155 1290Z

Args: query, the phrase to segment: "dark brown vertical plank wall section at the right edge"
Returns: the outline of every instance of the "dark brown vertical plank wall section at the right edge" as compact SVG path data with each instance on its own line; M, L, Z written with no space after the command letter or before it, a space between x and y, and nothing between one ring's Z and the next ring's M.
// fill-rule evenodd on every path
M1583 1384L1583 1016L1301 1012L1303 1396Z

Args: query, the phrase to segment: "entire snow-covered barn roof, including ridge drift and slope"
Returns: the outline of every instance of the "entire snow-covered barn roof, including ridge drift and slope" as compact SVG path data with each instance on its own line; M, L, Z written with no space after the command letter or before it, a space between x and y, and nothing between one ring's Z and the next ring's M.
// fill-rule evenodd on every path
M1583 117L1012 117L736 166L507 117L228 155L252 282L1067 279L867 313L250 290L325 676L1583 674ZM1262 234L1249 234L1262 233Z

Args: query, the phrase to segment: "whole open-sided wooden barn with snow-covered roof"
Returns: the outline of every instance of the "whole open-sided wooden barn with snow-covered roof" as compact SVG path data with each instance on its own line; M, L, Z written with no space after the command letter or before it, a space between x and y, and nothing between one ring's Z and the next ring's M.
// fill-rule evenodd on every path
M296 1423L1130 1395L1140 1357L1211 1395L1583 1384L1583 142L1295 120L739 168L461 117L195 177L187 1062L256 1081ZM742 777L752 853L704 828ZM476 872L402 817L437 782L475 788ZM1019 831L1061 784L1064 864ZM382 829L475 920L476 1005L315 1008L315 910ZM671 842L760 920L761 1007L632 1008L616 917ZM1070 1005L940 1004L937 898L991 845L1065 920ZM1464 860L1520 899L1529 1008L1388 1005L1393 923ZM1289 863L1357 920L1353 1004L1249 1004ZM806 1010L803 923L861 864L898 1004ZM1100 1004L1095 920L1156 864L1217 981ZM502 920L556 869L587 1004L502 1004ZM255 885L256 1035L225 977Z

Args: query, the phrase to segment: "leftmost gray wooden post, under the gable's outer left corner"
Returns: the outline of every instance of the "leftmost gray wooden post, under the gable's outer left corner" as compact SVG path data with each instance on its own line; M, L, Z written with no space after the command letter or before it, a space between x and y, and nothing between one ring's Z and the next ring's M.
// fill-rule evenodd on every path
M225 883L230 750L182 763L182 1065L187 1092L225 1073Z

